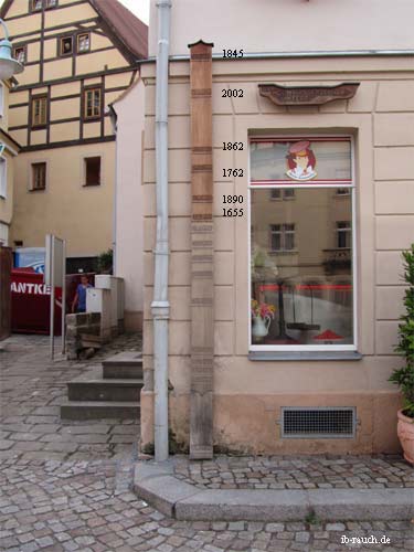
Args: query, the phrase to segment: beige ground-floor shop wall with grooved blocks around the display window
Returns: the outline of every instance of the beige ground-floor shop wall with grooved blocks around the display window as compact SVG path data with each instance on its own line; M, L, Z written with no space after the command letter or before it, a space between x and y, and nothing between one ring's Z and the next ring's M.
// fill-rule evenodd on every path
M340 65L341 73L337 73ZM152 320L156 232L155 66L144 70L145 130L145 389L142 443L153 440ZM259 83L335 85L357 81L355 97L320 107L276 107ZM237 87L243 98L222 98ZM190 393L190 89L189 63L170 64L169 92L170 425L188 442ZM414 72L411 57L314 59L213 63L214 174L214 442L244 452L395 452L400 395L388 378L402 312L401 250L414 242ZM222 195L243 194L247 206L251 131L352 135L355 145L358 350L360 361L248 360L247 217L223 219ZM245 177L223 179L222 169ZM355 406L354 439L280 439L280 406Z

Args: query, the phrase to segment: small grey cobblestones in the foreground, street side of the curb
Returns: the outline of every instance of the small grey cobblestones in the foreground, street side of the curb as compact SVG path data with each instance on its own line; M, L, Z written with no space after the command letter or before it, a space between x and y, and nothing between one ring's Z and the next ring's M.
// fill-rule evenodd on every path
M128 490L124 461L9 460L1 466L0 550L259 552L414 550L410 522L178 522ZM372 538L378 545L341 544ZM388 545L381 539L390 539Z

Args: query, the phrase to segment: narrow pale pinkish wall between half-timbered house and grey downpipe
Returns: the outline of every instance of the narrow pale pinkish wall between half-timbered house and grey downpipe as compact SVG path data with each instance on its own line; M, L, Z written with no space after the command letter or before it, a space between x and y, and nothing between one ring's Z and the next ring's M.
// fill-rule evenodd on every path
M145 86L138 79L117 102L115 273L125 282L125 329L142 329L142 138Z

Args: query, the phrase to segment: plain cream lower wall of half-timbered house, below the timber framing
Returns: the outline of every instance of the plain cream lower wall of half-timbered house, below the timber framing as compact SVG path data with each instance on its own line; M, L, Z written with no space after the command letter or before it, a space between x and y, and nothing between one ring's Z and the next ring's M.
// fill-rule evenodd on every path
M100 156L100 185L84 187L85 157ZM31 164L46 162L46 189L31 191ZM45 234L67 241L67 256L96 256L113 243L115 142L21 153L15 160L12 240L42 247Z

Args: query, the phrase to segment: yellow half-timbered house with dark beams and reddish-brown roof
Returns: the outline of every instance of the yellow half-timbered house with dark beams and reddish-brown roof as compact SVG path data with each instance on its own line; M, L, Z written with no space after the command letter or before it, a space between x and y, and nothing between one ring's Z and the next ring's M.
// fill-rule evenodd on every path
M147 25L117 0L6 0L0 15L24 64L10 94L14 246L67 241L68 269L113 243L115 131L106 106L139 77Z

